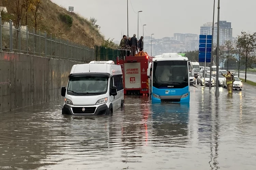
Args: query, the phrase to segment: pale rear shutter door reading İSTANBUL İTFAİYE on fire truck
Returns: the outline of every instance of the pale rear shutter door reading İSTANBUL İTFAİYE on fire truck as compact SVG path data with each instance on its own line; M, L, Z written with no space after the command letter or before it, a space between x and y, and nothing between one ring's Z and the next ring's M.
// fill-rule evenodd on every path
M140 63L125 63L125 88L141 88Z

